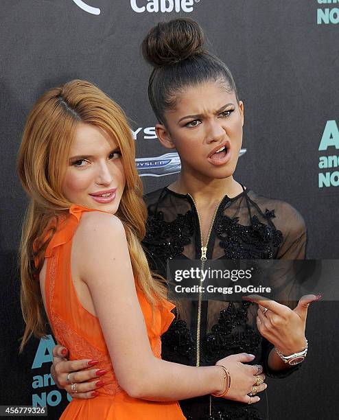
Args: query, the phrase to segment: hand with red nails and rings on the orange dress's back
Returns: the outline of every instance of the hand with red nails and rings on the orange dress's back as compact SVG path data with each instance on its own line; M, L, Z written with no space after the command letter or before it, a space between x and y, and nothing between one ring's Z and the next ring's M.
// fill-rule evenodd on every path
M97 360L67 360L66 347L57 345L53 349L51 375L60 389L67 390L73 398L89 399L98 395L97 389L104 385L100 376L107 373L103 369L89 369L97 364ZM68 380L67 380L68 377ZM93 381L93 379L96 379ZM91 380L91 382L89 382ZM71 384L76 385L76 393L72 393Z

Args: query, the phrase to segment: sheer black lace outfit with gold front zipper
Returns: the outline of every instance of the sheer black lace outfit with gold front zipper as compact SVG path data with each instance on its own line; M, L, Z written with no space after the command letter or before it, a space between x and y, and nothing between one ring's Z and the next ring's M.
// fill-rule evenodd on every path
M151 269L165 277L167 259L200 259L200 225L192 198L165 187L147 194L144 200L148 223L143 247ZM220 202L206 256L303 259L306 240L303 218L295 209L244 189L239 196L224 196ZM202 301L199 349L198 301L181 301L180 305L180 315L162 336L163 359L196 366L198 358L200 366L207 366L228 355L246 352L256 356L251 364L262 364L264 373L271 377L285 377L299 369L296 365L277 373L268 368L273 346L257 331L257 305L246 301ZM264 393L253 406L209 395L180 401L180 406L187 419L265 419Z

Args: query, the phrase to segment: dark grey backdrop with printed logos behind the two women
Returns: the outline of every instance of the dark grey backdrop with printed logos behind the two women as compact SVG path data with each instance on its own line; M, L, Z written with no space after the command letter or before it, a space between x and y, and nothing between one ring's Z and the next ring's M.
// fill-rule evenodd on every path
M202 25L244 101L237 180L302 213L309 258L339 257L338 1L3 0L0 405L47 405L48 418L57 419L71 399L49 375L53 336L18 350L16 259L27 199L15 165L25 117L50 87L74 78L94 82L130 119L145 192L172 183L180 159L156 139L147 95L151 68L139 45L154 24L178 16ZM336 418L338 310L336 302L310 307L308 360L296 375L270 382L270 418Z

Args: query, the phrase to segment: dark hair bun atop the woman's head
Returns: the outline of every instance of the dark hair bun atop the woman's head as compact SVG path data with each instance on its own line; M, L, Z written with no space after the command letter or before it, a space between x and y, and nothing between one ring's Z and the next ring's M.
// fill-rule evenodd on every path
M174 65L203 54L204 32L191 19L174 19L152 27L141 44L143 58L153 67Z

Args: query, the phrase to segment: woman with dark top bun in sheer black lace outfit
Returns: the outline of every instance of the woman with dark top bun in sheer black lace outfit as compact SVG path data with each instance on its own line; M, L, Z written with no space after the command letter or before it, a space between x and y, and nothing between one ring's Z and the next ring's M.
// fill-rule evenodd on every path
M142 51L154 67L148 95L159 121L156 134L165 148L178 151L181 161L174 183L144 196L143 248L150 267L165 277L167 259L304 259L307 233L298 211L233 178L244 104L231 71L204 48L200 25L190 19L159 23L143 40ZM239 360L238 366L262 364L265 375L288 376L305 359L307 307L319 297L303 296L294 309L255 299L182 300L180 313L162 336L162 357L211 366L245 351L255 359ZM61 351L67 354L62 347L54 349L53 369L63 385L75 365L62 361ZM82 369L81 362L76 368ZM93 372L74 375L85 381ZM204 395L180 401L180 406L187 419L265 419L266 408L248 406L260 383L248 390L246 401Z

